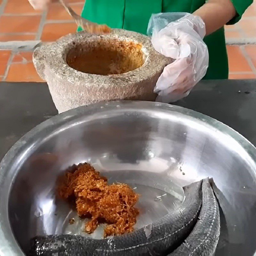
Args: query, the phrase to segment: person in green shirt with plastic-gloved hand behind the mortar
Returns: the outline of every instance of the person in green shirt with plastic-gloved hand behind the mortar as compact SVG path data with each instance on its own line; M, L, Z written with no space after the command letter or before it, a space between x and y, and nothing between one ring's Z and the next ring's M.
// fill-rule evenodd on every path
M29 0L36 9L49 1ZM152 36L156 51L175 59L155 88L158 101L171 102L201 79L228 78L224 25L239 21L252 1L86 0L81 16Z

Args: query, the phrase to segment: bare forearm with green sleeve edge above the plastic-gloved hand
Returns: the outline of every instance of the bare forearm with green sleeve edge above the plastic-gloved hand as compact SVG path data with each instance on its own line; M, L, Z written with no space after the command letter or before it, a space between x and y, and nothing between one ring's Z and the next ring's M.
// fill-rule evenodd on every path
M234 17L237 16L239 20L239 16L250 4L252 4L252 0L209 0L193 14L201 17L204 21L207 36L223 27ZM237 12L236 9L239 9L239 11Z

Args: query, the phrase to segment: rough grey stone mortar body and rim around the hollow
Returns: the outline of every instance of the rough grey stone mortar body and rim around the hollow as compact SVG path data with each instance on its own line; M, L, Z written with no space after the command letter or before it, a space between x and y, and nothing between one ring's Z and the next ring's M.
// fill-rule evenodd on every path
M106 40L140 45L144 63L129 72L110 75L88 74L68 65L67 56L72 50L74 52L82 45L81 50L77 50L79 55L79 52L95 48L101 42L105 44ZM69 34L51 45L41 45L34 51L33 62L39 76L46 80L53 102L61 113L100 101L155 100L153 88L172 59L156 52L148 36L114 29L108 35L91 35L84 31Z

